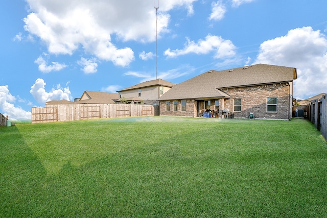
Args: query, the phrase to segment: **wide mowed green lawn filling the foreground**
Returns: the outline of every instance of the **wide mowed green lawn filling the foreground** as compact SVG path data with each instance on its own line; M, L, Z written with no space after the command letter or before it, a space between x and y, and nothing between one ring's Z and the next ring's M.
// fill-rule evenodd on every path
M113 118L0 128L1 217L326 217L304 119Z

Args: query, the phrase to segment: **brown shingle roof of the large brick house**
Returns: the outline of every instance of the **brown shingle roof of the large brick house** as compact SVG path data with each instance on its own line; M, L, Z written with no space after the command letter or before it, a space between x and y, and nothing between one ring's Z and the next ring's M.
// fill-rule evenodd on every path
M173 86L159 101L175 99L230 98L221 88L293 81L296 68L255 64L227 70L209 70Z

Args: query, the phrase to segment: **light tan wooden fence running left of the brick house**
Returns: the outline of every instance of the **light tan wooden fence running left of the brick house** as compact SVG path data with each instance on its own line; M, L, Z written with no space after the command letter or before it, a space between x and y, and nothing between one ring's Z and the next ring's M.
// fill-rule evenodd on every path
M32 108L32 124L127 116L154 116L152 105L69 104Z

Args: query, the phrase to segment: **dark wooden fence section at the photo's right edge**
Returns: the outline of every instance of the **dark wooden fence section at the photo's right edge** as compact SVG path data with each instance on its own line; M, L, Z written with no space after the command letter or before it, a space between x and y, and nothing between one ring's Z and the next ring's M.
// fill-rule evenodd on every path
M327 94L323 95L320 100L313 101L310 105L310 121L327 140Z

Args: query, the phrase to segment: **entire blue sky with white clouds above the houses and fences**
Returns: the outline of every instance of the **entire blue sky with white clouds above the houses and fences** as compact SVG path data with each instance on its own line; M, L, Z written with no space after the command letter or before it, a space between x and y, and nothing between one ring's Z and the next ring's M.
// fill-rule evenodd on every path
M325 0L2 1L0 113L31 119L32 107L85 90L177 84L258 63L295 67L294 98L307 99L327 92L326 8Z

